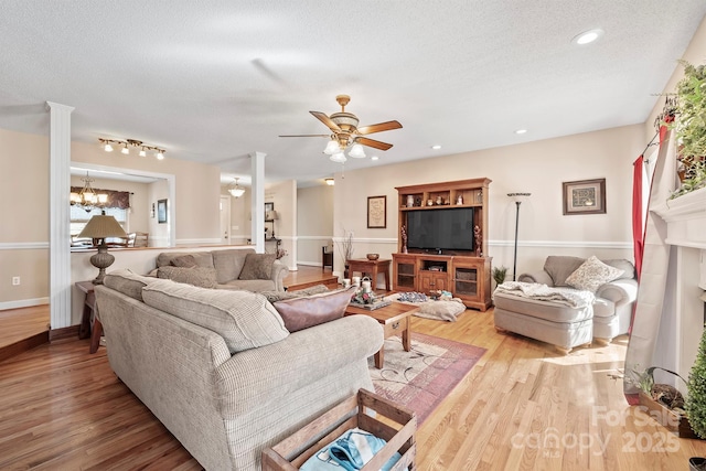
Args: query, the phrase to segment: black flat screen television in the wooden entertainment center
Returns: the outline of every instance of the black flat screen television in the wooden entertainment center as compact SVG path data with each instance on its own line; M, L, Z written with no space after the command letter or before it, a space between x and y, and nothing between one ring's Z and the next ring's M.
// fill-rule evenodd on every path
M407 212L407 248L473 250L473 208Z

